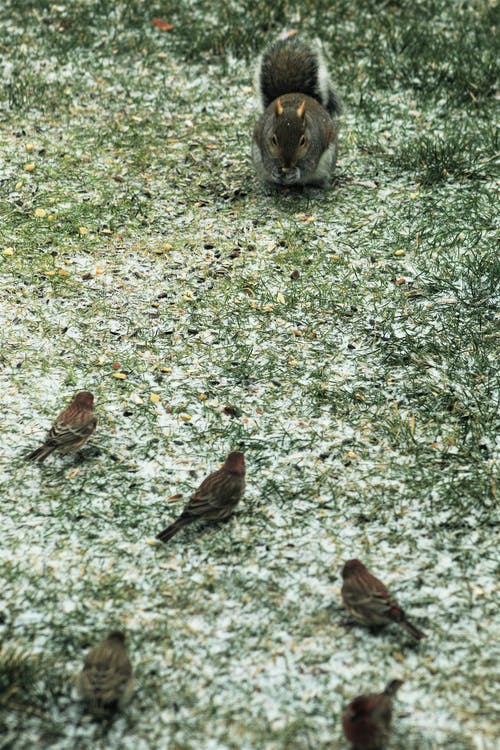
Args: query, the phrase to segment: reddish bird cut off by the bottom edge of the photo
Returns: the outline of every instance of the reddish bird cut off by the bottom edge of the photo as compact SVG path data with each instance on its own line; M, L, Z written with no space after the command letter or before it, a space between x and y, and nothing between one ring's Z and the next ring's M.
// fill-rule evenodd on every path
M392 696L402 684L392 680L383 693L358 695L349 703L342 727L352 750L383 750L391 729Z

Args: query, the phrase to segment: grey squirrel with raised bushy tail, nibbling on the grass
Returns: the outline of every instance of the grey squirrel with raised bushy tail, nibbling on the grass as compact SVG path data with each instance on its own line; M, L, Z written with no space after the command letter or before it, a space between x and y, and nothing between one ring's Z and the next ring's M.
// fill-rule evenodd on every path
M258 177L325 187L337 161L341 104L320 49L281 39L262 55L255 80L264 110L252 141Z

